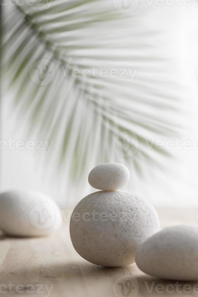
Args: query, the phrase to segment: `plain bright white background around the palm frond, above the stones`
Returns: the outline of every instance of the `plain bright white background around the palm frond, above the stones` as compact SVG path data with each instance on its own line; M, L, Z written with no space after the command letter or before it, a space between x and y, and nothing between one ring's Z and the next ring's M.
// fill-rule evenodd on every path
M198 66L198 7L158 7L153 5L152 12L144 13L142 19L149 30L159 30L159 51L170 59L170 63L177 61L178 69L174 75L178 75L178 84L175 92L181 92L181 107L183 110L180 121L186 127L181 131L183 139L192 142L198 139L198 78L196 68ZM131 28L133 30L133 28ZM152 44L152 40L150 41ZM163 44L162 44L163 42ZM155 44L158 44L155 41ZM166 82L164 82L166 84ZM1 139L24 141L33 138L26 135L28 119L18 118L12 110L12 98L14 93L2 94L1 102ZM172 115L174 117L174 113ZM178 135L175 135L177 137ZM162 138L163 139L163 138ZM56 140L54 140L56 141ZM53 150L52 150L53 151ZM154 206L162 207L191 207L198 205L198 151L195 149L182 151L174 150L173 158L166 161L166 170L160 169L152 177L138 176L133 168L129 168L131 178L128 190L144 196ZM76 197L72 190L64 186L57 172L50 164L50 156L46 156L42 150L11 150L1 151L1 191L8 189L34 189L51 195L61 206L73 206L84 195L94 192L84 180L82 196ZM47 164L43 164L46 159ZM152 172L152 164L150 164ZM153 169L154 170L154 169ZM76 185L78 187L78 185Z

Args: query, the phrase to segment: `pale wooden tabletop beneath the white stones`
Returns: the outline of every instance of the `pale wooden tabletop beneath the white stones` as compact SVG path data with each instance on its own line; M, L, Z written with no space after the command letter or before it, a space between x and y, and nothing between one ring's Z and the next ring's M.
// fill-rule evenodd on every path
M158 209L157 211L161 227L180 223L198 225L196 209L180 211ZM67 214L67 211L65 213ZM193 287L196 283L163 281L145 275L136 264L106 268L85 261L75 252L71 244L68 225L69 222L64 222L60 232L42 238L11 238L1 235L0 295L198 296L198 286ZM12 291L9 289L9 283L10 286L12 285ZM131 284L132 289L130 289ZM186 287L186 284L190 287ZM17 285L19 286L16 287ZM186 293L190 292L190 288L192 293ZM194 291L196 289L195 292L193 288Z

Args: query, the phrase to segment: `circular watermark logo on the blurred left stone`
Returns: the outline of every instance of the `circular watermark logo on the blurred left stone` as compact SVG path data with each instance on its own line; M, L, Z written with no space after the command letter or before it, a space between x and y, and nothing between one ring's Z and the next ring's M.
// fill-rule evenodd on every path
M56 219L54 206L47 202L35 205L29 213L29 219L37 229L50 228Z

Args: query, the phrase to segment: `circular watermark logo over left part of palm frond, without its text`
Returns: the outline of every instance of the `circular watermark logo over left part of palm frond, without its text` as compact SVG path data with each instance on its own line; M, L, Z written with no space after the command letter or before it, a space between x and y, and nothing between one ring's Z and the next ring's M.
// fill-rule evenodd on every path
M54 63L48 59L34 62L29 69L30 78L37 85L49 85L53 82L55 74Z

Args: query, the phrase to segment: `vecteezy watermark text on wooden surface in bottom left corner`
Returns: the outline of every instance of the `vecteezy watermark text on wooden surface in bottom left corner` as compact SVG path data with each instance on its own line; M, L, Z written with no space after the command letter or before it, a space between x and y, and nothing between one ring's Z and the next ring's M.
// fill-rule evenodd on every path
M13 284L9 282L8 284L0 284L0 294L42 294L42 296L50 297L54 285L50 287L47 284Z

